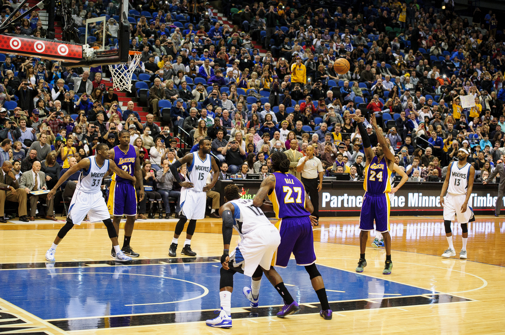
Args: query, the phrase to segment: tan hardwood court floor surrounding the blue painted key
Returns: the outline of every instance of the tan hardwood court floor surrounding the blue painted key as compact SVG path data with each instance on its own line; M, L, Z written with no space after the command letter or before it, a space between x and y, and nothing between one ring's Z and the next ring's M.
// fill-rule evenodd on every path
M171 243L175 223L176 220L137 221L131 245L135 251L140 253L141 259L168 258L168 247ZM4 270L7 267L25 266L26 264L23 263L44 262L45 251L51 246L62 225L62 223L0 224L0 245L2 246L0 249L0 272L7 271ZM455 228L453 227L455 235L453 241L458 253L461 248L461 229ZM70 330L67 333L83 335L94 333L166 334L168 332L189 334L226 332L234 334L308 332L333 334L338 331L349 334L405 334L407 332L502 334L505 332L503 330L505 321L502 317L505 312L503 303L503 297L505 297L505 288L503 287L503 277L505 276L505 267L503 267L505 266L505 257L503 257L505 254L504 233L502 217L479 216L475 223L469 225L468 260L460 260L456 257L442 259L440 254L445 250L447 242L443 221L440 217L392 218L392 260L394 266L390 276L382 275L385 259L383 248L367 248L368 266L363 275L373 280L370 283L377 284L376 280L385 280L387 283L404 284L436 294L466 298L468 299L466 301L441 303L440 300L439 303L419 305L407 303L399 306L388 302L400 297L388 297L387 293L384 296L374 296L374 293L370 293L369 298L365 299L366 306L357 309L334 310L331 321L325 321L319 317L317 315L319 309L315 308L312 313L293 315L286 319L272 316L235 318L232 314L234 317L233 328L230 330L210 328L204 322L199 321L116 328L102 327ZM123 231L120 233L120 238L122 235ZM183 233L181 238L184 237ZM237 239L238 236L234 236L232 245L236 244ZM335 269L335 271L340 271L339 273L355 274L359 258L358 218L324 218L320 221L320 227L314 229L314 240L318 255L317 264L320 267L324 267L325 271ZM369 237L368 245L372 240L373 237ZM191 246L199 257L219 258L222 253L221 222L213 219L199 221ZM56 257L58 262L109 261L111 259L110 249L110 241L107 238L104 225L88 223L68 233L58 247ZM300 276L305 275L302 272L300 274ZM242 275L237 274L235 277L238 279L238 276ZM332 287L327 286L327 289L335 292L338 292L339 288L342 290L339 287L338 278L327 278L326 282L331 283L328 285L332 285ZM86 285L85 282L83 284ZM347 283L341 285L344 284ZM7 295L4 290L9 290L10 286L14 287L14 285L15 283L10 282L2 283L0 298ZM260 292L268 289L269 285L264 279ZM213 308L218 308L218 284L212 282L206 286L209 290L208 295L214 296L216 299L216 305ZM294 288L288 287L288 290L292 291ZM359 292L356 294L358 296ZM330 296L329 293L328 296ZM241 287L235 288L232 301L235 298L243 299ZM293 298L298 299L299 297L293 295ZM316 305L317 299L313 303ZM305 305L313 307L310 303ZM381 308L377 308L378 306ZM0 299L0 309L20 315L33 322L33 325L40 325L49 333L65 333L52 323L29 314L6 300Z

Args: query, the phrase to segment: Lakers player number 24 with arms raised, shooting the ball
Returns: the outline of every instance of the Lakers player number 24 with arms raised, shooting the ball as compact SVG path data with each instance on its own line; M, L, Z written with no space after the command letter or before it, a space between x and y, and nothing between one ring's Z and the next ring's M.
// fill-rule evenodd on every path
M386 247L386 262L382 274L390 275L393 263L391 262L391 235L389 235L390 203L387 193L391 191L390 177L394 169L394 156L389 151L382 130L377 126L375 114L370 116L370 121L375 129L377 140L379 141L375 149L375 154L372 151L370 138L365 130L361 116L354 115L354 119L357 121L358 128L360 129L363 149L367 158L365 171L363 173L365 177L363 187L366 192L363 196L360 215L360 260L358 261L356 272L363 272L364 267L367 266L365 250L367 248L368 232L374 230L375 221L375 230L382 233L384 245Z

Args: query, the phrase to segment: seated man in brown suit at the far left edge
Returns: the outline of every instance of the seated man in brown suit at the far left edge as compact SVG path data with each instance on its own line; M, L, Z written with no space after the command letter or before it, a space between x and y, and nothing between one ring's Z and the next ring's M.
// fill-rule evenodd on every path
M0 222L6 223L4 218L5 200L17 202L19 221L28 222L26 218L26 192L19 188L19 182L12 172L12 164L5 161L0 171Z

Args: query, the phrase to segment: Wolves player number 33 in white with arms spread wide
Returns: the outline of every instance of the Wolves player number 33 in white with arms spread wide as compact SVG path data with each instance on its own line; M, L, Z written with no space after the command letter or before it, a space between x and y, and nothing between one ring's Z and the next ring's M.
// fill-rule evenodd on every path
M58 232L53 246L45 253L45 259L55 261L56 247L74 225L80 225L82 220L89 215L93 222L103 221L107 227L107 232L111 238L114 249L116 250L116 261L129 263L131 257L126 256L119 247L118 234L111 220L109 209L102 195L102 180L107 171L115 172L118 176L129 179L135 184L136 178L126 173L109 159L109 147L105 143L100 143L96 147L96 155L82 159L79 163L68 169L67 172L58 180L55 187L47 194L47 199L51 199L60 185L67 180L69 176L81 170L77 186L75 188L72 201L68 210L67 223Z

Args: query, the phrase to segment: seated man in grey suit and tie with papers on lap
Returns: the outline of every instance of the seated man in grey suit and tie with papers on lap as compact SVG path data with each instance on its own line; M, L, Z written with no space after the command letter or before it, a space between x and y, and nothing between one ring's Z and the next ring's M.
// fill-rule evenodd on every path
M19 188L24 189L26 194L29 194L31 191L37 191L42 189L47 190L47 186L45 185L45 174L40 171L40 167L41 165L39 161L33 162L32 169L26 171L21 176L21 182L19 183ZM30 196L30 221L35 221L35 210L37 209L37 202L39 198L45 199L47 205L47 212L45 218L47 220L56 221L53 211L54 199L52 198L51 200L47 201L47 194L40 194L40 195L32 194Z

